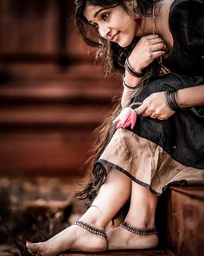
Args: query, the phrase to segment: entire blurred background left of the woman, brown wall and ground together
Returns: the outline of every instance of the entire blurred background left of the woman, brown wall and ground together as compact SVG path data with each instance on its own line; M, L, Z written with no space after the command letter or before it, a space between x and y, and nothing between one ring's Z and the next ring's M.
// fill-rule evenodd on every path
M0 1L1 256L27 255L26 239L46 240L84 212L73 191L122 89L94 63L73 10L73 0Z

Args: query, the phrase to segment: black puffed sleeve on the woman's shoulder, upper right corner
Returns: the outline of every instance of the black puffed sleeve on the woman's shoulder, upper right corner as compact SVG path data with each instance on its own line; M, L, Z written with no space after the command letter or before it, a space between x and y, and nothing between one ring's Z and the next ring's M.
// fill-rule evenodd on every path
M169 13L174 41L188 56L204 57L204 0L175 0Z

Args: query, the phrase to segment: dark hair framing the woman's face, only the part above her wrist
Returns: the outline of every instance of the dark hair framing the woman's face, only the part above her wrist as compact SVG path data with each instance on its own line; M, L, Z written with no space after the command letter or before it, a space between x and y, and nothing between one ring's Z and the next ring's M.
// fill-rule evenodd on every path
M88 45L99 49L96 56L104 64L105 75L114 73L116 69L124 69L124 61L137 43L138 38L135 38L131 45L125 48L120 47L118 43L107 41L99 35L99 31L96 27L88 23L83 12L86 8L86 4L99 5L103 8L112 8L119 4L128 13L130 10L126 4L127 2L127 0L75 0L76 26L84 41ZM161 0L137 0L137 7L141 15L151 16L153 6L158 2L161 2Z

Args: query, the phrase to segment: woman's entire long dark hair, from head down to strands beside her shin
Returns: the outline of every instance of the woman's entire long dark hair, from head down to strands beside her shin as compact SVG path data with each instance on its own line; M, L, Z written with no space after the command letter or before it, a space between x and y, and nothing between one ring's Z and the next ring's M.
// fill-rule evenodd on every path
M137 0L137 5L143 16L150 16L152 14L153 5L160 1L161 0ZM138 38L135 38L131 45L126 48L119 47L117 43L107 42L99 36L97 29L92 28L90 23L88 23L83 11L85 10L87 3L105 8L111 8L121 4L121 6L124 7L124 10L127 10L126 2L127 1L120 0L75 0L75 22L80 31L80 35L87 44L100 49L100 54L104 58L104 62L107 65L106 68L108 68L106 69L107 73L110 73L111 69L124 68L124 60L137 43ZM92 35L97 36L93 37ZM104 183L107 175L105 167L97 163L97 161L116 130L115 125L112 125L112 121L121 110L120 100L115 102L112 109L113 111L110 112L101 126L95 130L97 136L95 136L96 139L92 145L90 157L86 161L87 174L85 181L83 182L83 189L75 194L78 199L87 199L90 203L98 194L99 188Z

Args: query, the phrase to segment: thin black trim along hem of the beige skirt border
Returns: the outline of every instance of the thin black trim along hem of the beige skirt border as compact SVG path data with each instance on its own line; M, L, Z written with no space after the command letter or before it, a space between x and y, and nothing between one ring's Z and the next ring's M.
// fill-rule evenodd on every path
M103 159L99 159L97 161L98 163L100 163L103 167L104 167L104 164L108 164L110 167L114 168L114 169L117 169L118 171L120 171L121 173L127 175L131 181L135 181L137 184L143 186L143 187L146 187L146 188L149 188L150 189L150 192L152 194L155 194L156 196L160 196L162 195L162 193L157 193L154 189L152 189L150 187L150 184L147 184L147 183L144 183L143 181L139 181L137 180L134 176L132 176L128 171L124 170L122 167L118 167L118 165L115 165L114 163L110 162L110 161L106 161L106 160L103 160Z

